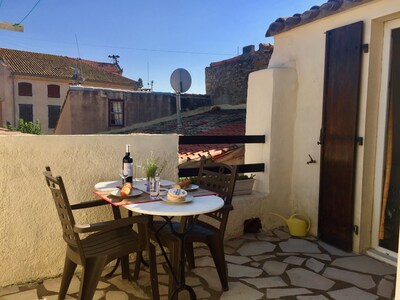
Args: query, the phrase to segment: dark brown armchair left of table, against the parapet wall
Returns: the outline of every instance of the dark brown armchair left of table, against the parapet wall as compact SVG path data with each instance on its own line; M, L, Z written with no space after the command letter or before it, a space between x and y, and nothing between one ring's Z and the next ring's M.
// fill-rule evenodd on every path
M94 200L71 205L62 178L54 177L49 167L46 167L43 174L53 195L63 238L67 243L58 299L65 298L78 264L83 267L79 299L90 300L106 264L117 258L127 257L129 253L141 253L144 249L149 251L152 297L159 299L156 254L148 236L148 217L134 216L94 224L76 224L72 210L96 207L107 202ZM139 233L132 229L133 224L138 225ZM81 234L84 234L83 238ZM135 268L135 273L138 271Z

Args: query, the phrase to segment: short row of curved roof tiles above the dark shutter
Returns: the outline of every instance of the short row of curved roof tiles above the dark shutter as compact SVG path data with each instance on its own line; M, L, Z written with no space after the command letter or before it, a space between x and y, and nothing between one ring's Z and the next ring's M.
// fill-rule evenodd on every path
M274 36L370 1L374 0L328 0L321 6L315 5L301 14L297 13L291 17L276 19L269 25L265 36Z

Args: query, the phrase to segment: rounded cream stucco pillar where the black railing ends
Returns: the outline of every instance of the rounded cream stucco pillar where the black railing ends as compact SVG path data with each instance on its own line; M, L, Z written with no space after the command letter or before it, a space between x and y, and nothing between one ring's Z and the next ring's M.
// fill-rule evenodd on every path
M249 77L246 134L265 134L265 144L246 145L246 163L264 162L255 190L267 193L259 215L265 228L283 225L268 213L292 212L293 134L296 118L297 74L294 69L267 69Z

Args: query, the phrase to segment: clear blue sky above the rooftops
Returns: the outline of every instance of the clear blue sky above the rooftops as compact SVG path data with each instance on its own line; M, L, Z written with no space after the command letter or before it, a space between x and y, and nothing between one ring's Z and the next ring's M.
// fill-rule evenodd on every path
M112 62L144 87L173 92L172 72L186 69L187 93L205 93L205 68L266 38L279 17L302 13L323 0L0 0L0 47Z

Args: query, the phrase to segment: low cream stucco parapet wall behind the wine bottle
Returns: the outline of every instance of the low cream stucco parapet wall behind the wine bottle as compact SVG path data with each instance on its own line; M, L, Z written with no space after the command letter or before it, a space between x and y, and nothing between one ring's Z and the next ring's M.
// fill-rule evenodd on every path
M64 179L71 203L94 199L96 182L117 180L125 144L134 160L151 151L168 161L163 176L177 179L177 135L0 136L0 286L61 274L65 242L42 172ZM111 217L107 208L78 222Z

